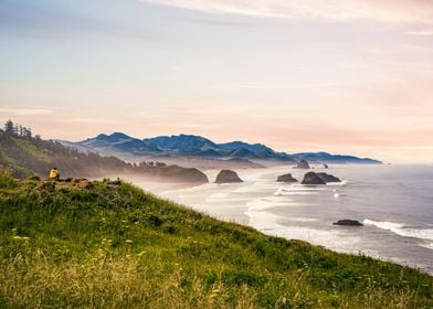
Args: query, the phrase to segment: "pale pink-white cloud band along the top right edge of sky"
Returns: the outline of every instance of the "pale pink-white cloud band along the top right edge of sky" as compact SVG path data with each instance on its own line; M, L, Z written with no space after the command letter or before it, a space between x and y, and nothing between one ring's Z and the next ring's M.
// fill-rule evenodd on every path
M257 17L433 23L430 0L141 0L210 13Z

